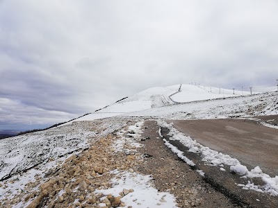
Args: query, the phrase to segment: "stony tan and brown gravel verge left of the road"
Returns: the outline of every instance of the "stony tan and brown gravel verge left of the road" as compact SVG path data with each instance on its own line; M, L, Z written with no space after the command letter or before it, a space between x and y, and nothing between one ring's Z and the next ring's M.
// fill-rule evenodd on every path
M215 189L199 173L182 162L171 152L158 135L155 121L145 121L138 138L129 132L128 126L138 119L126 120L124 128L114 130L90 145L88 150L73 154L65 162L51 168L44 177L26 184L24 191L0 202L0 207L128 207L122 197L133 189L123 189L119 197L104 196L96 190L113 186L111 171L127 171L152 175L156 189L170 192L176 197L177 207L256 207L238 205L232 198ZM98 121L98 125L101 125ZM96 128L96 127L95 127ZM98 130L98 132L102 131ZM115 142L124 138L122 149ZM138 141L143 146L132 144ZM0 187L8 187L7 181ZM163 207L163 206L161 206Z

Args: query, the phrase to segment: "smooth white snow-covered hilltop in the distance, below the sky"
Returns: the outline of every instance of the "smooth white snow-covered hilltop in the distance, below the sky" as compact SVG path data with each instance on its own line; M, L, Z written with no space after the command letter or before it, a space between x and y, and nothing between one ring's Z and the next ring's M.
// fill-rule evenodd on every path
M92 121L111 116L120 116L126 113L155 109L157 107L170 106L175 103L204 101L208 99L223 98L223 96L239 96L241 94L241 92L237 91L235 91L234 94L233 89L221 89L221 94L219 94L215 93L217 90L219 91L219 88L195 85L182 85L181 92L178 92L179 87L180 85L172 85L168 87L152 87L145 89L138 94L125 98L124 100L112 105L108 105L97 112L75 119L74 121ZM222 92L224 92L224 94ZM249 94L249 92L243 92L243 94ZM70 121L63 125L67 125L72 122L73 121Z

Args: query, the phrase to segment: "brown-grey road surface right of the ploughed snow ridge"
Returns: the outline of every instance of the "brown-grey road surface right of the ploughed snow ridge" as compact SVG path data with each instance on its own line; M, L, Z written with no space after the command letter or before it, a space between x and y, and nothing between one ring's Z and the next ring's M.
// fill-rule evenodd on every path
M174 128L200 144L235 157L249 169L260 166L264 173L278 175L278 130L275 128L247 119L167 122L174 123Z

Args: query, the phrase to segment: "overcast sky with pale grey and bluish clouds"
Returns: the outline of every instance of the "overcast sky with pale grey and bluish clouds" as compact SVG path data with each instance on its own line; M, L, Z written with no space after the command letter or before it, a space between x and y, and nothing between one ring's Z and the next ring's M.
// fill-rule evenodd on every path
M0 129L149 87L276 85L277 2L0 0Z

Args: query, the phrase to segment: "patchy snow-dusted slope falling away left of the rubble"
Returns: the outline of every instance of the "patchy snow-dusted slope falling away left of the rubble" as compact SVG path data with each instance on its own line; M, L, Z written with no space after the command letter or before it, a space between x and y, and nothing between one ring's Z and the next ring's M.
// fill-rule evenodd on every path
M97 125L97 130L93 128ZM124 122L75 122L0 140L0 180L51 159L88 148L88 144L121 128Z

